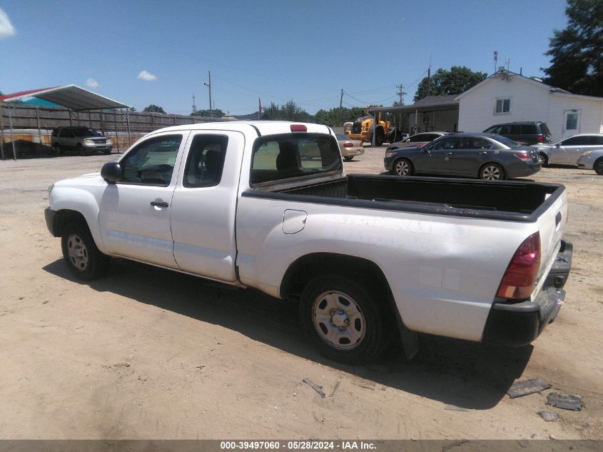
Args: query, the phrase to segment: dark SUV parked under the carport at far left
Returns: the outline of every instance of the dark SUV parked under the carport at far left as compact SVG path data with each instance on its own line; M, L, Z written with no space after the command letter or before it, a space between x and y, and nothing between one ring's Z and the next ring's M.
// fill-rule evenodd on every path
M61 154L63 151L75 151L81 156L90 155L96 151L111 154L113 149L111 139L102 136L94 129L83 126L52 129L51 146L57 154Z

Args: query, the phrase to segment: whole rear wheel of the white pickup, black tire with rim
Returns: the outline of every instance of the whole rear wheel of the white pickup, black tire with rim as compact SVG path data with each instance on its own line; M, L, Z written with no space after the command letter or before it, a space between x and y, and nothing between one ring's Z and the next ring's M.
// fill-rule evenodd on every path
M340 275L318 276L300 299L300 321L327 358L345 364L375 360L387 345L382 308L368 286Z

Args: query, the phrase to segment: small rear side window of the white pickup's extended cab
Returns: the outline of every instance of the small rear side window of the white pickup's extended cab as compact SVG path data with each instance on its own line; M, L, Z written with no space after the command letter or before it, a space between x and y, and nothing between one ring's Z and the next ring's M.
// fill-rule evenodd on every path
M211 187L220 184L228 136L197 135L188 151L183 186Z

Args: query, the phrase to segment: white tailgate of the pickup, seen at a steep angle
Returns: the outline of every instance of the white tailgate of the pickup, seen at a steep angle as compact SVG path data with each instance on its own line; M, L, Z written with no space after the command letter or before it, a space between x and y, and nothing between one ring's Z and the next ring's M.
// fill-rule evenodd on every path
M550 196L550 195L549 195ZM552 203L544 202L546 210L538 216L537 225L540 233L540 268L538 283L532 297L542 288L544 276L553 266L557 252L561 246L561 239L567 223L567 192L563 189L560 196Z

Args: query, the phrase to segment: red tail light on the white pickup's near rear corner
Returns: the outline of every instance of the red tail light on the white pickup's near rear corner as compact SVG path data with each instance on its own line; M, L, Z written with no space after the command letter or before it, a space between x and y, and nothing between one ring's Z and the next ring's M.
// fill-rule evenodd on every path
M496 296L525 300L534 290L540 268L540 235L534 232L515 251L505 276L502 276Z

